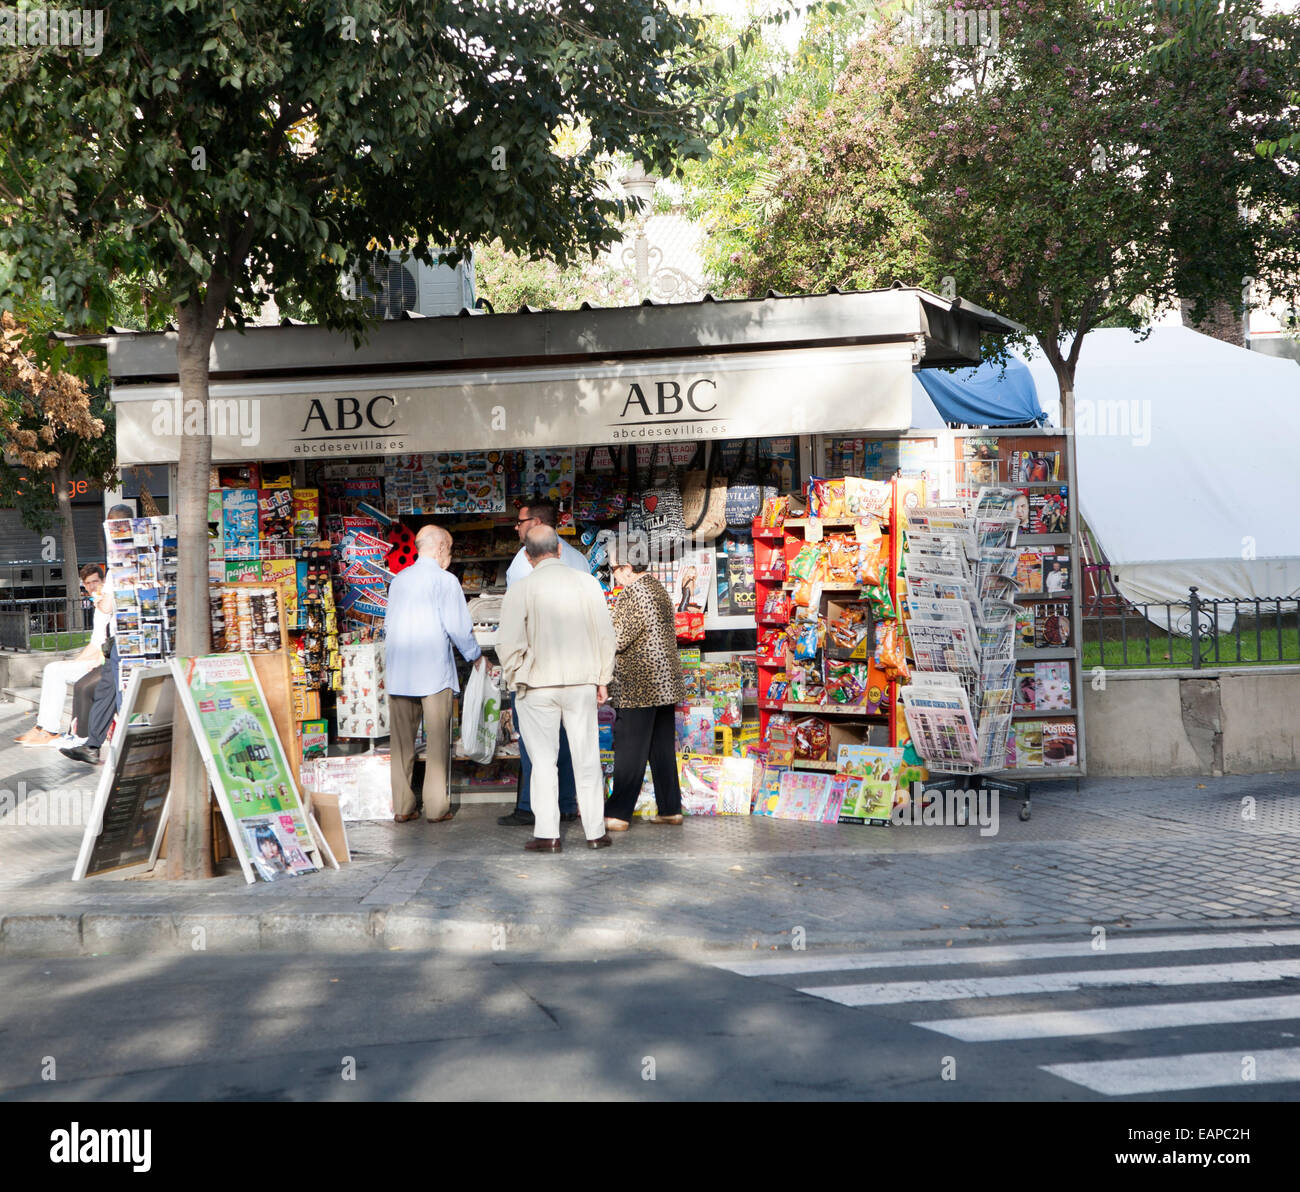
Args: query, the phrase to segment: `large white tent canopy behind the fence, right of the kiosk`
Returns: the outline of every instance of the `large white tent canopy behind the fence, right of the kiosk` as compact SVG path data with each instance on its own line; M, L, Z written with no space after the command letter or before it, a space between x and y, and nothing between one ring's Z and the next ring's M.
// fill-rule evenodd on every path
M1050 422L1056 374L1026 359ZM919 428L942 420L918 382ZM1300 593L1300 368L1183 326L1092 331L1075 373L1079 512L1134 602Z

